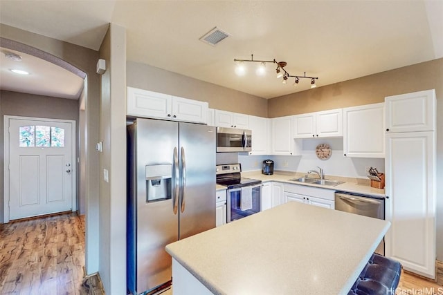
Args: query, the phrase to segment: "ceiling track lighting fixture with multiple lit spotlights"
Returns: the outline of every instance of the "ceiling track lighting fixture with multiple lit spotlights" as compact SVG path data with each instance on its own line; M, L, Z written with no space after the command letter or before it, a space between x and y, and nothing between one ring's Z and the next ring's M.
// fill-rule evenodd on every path
M246 68L244 68L244 61L260 62L259 68L257 68L257 70L255 70L255 73L257 75L265 75L266 63L272 63L272 64L277 64L277 68L275 69L275 73L277 73L276 77L277 77L277 79L283 78L283 81L282 81L283 84L287 84L287 80L289 77L295 77L296 79L293 83L294 86L298 85L298 82L300 82L300 78L306 78L306 79L311 79L311 88L317 87L316 79L318 79L318 77L308 77L306 75L306 72L302 76L301 75L289 75L287 70L284 69L284 67L287 65L286 61L276 61L275 59L273 59L273 60L254 60L253 55L251 55L251 59L234 59L234 61L237 62L237 68L235 68L235 73L239 76L242 76L246 73ZM239 68L240 66L242 68Z

